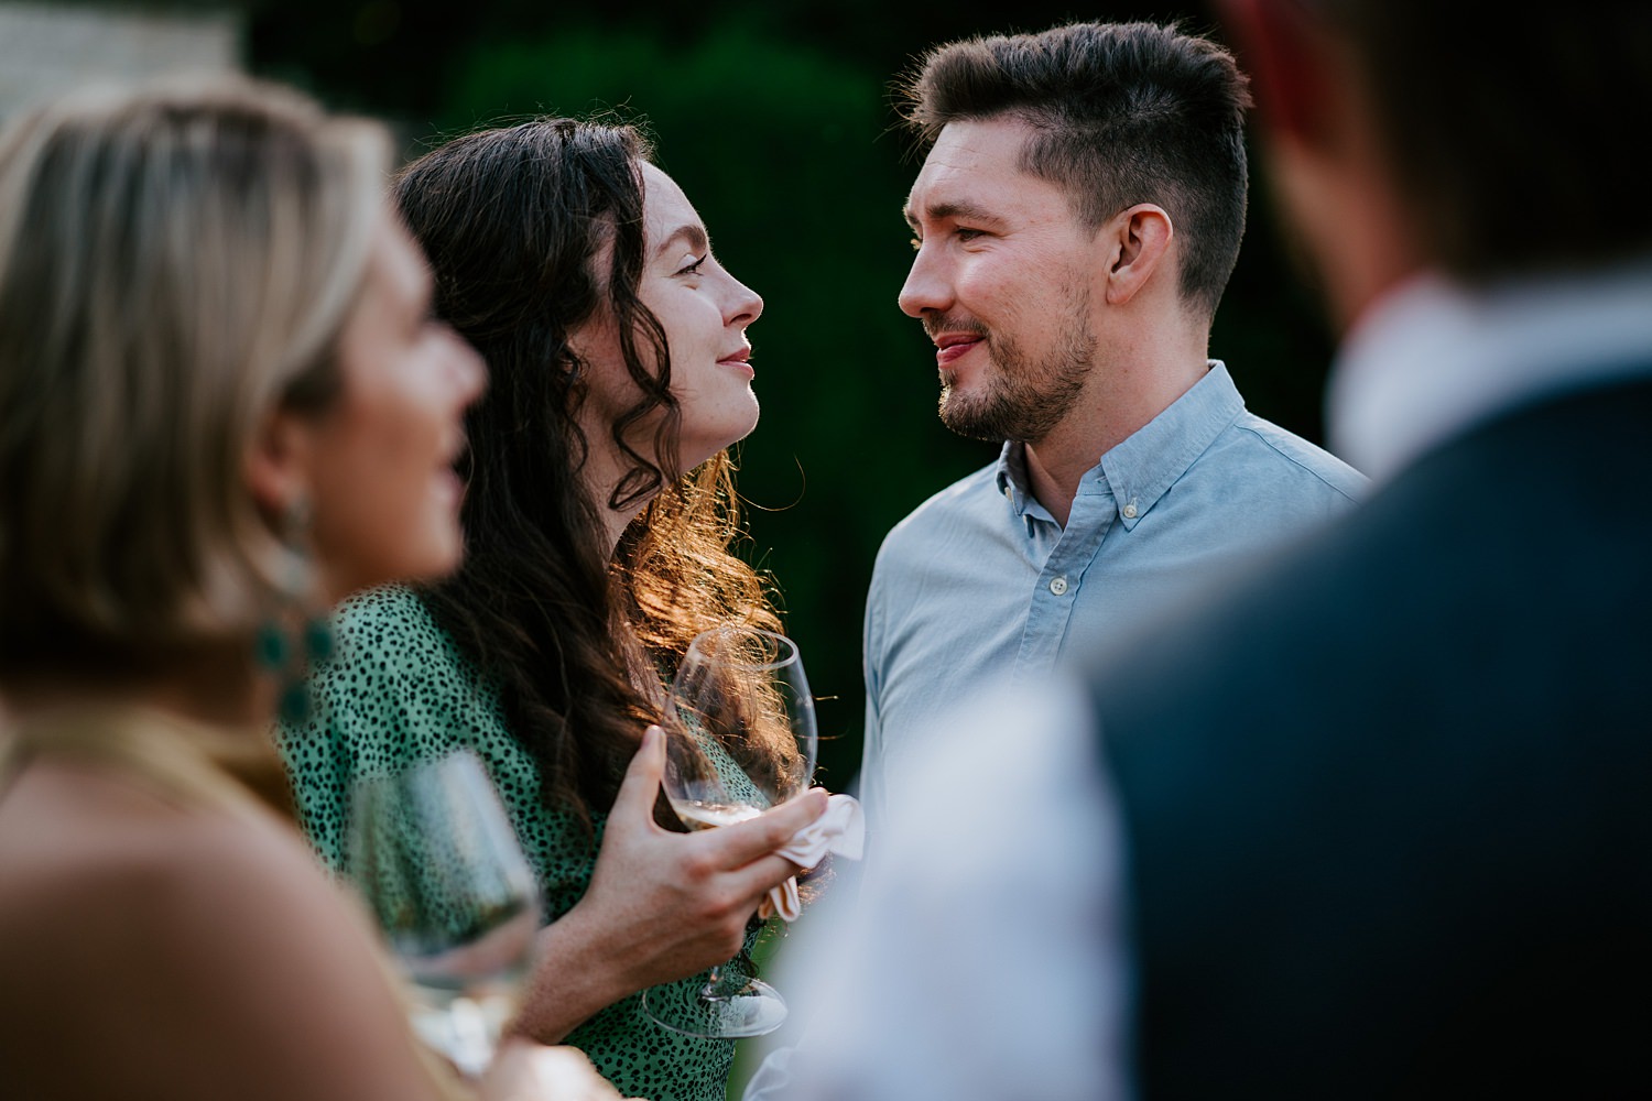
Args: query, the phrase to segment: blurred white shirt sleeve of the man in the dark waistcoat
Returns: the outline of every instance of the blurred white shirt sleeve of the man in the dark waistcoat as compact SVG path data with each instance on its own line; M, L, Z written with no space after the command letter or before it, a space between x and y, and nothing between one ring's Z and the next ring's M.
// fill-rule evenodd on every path
M859 903L824 900L776 974L816 1012L748 1101L1128 1096L1115 802L1084 695L1037 692L890 769Z

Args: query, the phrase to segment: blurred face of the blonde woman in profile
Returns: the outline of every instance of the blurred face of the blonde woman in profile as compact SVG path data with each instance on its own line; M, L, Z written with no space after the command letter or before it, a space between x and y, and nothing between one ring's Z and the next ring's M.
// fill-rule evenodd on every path
M339 399L311 437L316 555L332 599L459 565L463 485L453 464L486 371L433 319L430 295L425 258L387 216L339 338Z

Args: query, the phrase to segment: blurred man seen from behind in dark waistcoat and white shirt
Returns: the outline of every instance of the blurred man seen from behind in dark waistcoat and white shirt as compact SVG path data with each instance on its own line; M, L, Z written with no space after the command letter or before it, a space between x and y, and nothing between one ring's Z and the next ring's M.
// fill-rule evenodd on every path
M890 777L809 1096L1644 1096L1652 5L1222 10L1373 495Z

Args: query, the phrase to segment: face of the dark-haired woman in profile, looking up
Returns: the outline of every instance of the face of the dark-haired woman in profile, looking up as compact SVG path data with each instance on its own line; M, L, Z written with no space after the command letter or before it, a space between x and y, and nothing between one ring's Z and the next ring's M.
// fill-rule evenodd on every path
M671 177L643 163L643 187L646 241L638 297L666 330L671 391L682 408L677 457L689 470L757 428L745 328L762 315L763 299L717 262L700 216ZM636 386L611 324L595 327L583 343L590 399L611 423L636 403ZM646 437L646 431L638 434L638 441Z

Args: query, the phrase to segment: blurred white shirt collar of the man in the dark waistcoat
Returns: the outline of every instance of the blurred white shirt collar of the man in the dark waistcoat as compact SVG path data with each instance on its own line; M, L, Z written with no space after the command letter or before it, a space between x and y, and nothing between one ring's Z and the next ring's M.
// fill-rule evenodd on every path
M1343 342L1327 419L1373 479L1517 404L1652 371L1652 258L1469 289L1417 276Z

